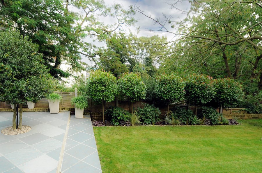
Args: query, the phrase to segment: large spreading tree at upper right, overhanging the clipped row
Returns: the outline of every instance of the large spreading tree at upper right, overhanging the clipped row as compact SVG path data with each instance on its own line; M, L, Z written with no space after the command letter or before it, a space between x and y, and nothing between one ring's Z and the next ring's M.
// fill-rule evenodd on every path
M178 1L170 3L171 8L178 9ZM190 3L183 21L175 22L167 15L164 22L153 19L160 25L158 31L179 36L173 41L171 56L162 64L167 68L165 71L194 71L215 78L226 76L243 81L248 93L259 92L262 89L262 2L198 0ZM139 8L134 9L144 14Z

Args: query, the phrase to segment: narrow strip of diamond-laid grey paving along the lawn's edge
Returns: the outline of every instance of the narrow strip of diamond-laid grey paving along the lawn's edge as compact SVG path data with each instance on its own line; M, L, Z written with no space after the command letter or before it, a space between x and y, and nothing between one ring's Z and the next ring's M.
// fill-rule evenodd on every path
M71 116L61 172L102 172L89 115Z

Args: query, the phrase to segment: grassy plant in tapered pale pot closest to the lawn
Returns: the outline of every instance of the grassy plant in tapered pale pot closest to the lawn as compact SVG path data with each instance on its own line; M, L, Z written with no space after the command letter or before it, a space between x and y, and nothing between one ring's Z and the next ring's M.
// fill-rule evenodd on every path
M71 99L71 104L75 104L75 118L83 118L84 109L88 108L87 98L79 95Z

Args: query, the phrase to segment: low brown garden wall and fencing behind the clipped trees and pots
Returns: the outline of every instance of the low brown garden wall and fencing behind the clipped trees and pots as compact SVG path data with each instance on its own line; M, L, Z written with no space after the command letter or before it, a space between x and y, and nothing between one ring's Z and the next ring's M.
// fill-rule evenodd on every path
M60 111L70 111L72 115L75 114L74 107L71 105L71 98L75 97L75 93L72 92L56 92L62 96L62 100L60 101ZM137 109L138 107L143 108L144 104L148 103L145 101L134 102L133 107ZM151 103L148 103L151 104ZM89 108L84 111L85 114L90 114L92 119L94 120L102 120L102 104L96 103L88 100ZM108 102L105 104L105 110L109 108L109 106L117 106L121 107L127 111L131 111L131 103L125 100L118 100L113 102ZM175 106L186 107L186 105L170 105L169 109L172 109ZM167 111L166 105L157 105L157 107L161 111L161 117L164 117L165 112ZM197 113L199 113L200 107L197 107ZM195 113L196 107L190 107L190 109ZM12 111L10 104L6 102L0 102L0 111ZM23 111L49 111L49 104L47 99L41 99L35 104L34 109L28 109L27 104L23 106ZM219 111L219 109L217 109ZM247 112L241 108L231 108L231 109L223 109L223 115L225 118L233 118L238 117L240 119L253 119L253 118L262 118L262 114L247 114ZM107 116L105 116L105 120L110 120Z

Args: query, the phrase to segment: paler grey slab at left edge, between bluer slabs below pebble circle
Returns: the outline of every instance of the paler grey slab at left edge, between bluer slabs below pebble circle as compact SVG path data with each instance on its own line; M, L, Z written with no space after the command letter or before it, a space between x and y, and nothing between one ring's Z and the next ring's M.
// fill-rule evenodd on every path
M28 147L28 145L26 145L25 143L23 143L19 139L15 139L15 140L12 140L10 142L1 144L0 145L0 152L3 155L6 155L8 153L17 151L17 150L25 148L25 147Z

